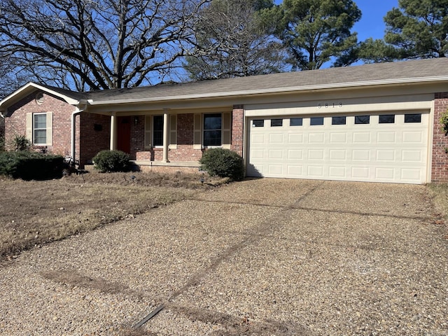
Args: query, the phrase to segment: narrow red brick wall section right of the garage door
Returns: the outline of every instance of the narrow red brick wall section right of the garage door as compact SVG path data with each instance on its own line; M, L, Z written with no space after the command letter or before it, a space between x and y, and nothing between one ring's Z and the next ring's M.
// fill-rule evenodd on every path
M434 136L433 136L433 164L431 182L448 183L448 154L444 148L448 147L448 137L445 137L440 125L440 116L448 111L448 92L435 94L434 104Z

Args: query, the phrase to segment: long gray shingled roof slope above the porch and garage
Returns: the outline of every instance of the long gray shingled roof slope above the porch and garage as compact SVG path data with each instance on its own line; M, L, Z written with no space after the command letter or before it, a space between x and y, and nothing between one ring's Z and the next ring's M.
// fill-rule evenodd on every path
M156 101L188 97L222 97L313 88L409 83L448 80L448 58L364 64L343 68L274 73L241 78L203 80L193 83L160 84L151 87L85 92L92 104Z

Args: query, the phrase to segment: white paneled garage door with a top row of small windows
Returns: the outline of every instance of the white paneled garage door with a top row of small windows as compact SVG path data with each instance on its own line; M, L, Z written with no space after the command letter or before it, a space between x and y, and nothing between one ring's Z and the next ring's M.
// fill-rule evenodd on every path
M248 176L426 182L428 113L248 121Z

